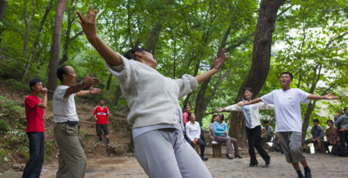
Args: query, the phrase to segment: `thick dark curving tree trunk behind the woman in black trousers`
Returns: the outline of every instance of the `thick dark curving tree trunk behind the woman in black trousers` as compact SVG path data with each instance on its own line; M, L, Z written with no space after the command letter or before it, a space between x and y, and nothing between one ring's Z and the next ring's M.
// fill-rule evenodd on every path
M258 95L264 81L267 79L271 60L271 44L277 12L286 0L262 0L260 3L258 24L256 24L253 42L253 62L246 79L239 89L235 103L243 98L245 87L253 88L253 95ZM245 120L241 112L232 112L230 115L230 136L237 138L239 144L246 145Z

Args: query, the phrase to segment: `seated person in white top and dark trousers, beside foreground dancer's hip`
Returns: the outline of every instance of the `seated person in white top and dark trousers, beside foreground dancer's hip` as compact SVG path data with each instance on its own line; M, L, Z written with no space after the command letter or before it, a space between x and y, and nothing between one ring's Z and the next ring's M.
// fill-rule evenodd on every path
M200 146L200 158L203 161L207 161L208 158L204 156L205 141L200 138L200 125L196 122L196 115L194 113L189 113L189 122L186 123L185 130L188 142L191 146Z

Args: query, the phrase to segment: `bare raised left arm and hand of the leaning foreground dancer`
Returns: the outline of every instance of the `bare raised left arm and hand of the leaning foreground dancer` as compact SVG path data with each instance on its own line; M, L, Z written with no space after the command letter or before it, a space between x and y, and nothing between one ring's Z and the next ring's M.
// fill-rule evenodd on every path
M118 56L115 51L113 51L108 45L103 42L102 39L98 37L95 21L95 18L97 17L97 10L93 10L93 13L90 13L91 11L92 6L89 6L86 17L83 17L81 13L77 11L76 13L79 16L79 20L77 22L81 24L87 40L98 51L100 56L104 58L106 63L109 63L109 65L112 66L121 65L122 60L120 59L120 56Z

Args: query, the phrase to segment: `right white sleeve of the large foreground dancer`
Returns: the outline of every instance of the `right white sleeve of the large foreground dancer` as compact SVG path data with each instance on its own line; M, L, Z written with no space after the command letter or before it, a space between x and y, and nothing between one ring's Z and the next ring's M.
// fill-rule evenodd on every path
M184 74L181 79L175 79L174 81L180 88L179 98L186 96L198 87L196 78L189 74Z

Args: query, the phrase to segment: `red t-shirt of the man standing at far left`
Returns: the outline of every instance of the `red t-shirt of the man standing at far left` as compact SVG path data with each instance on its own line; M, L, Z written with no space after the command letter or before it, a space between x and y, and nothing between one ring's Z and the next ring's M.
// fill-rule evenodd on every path
M45 132L45 124L43 122L43 108L38 104L41 103L39 97L29 95L25 98L25 115L26 115L26 133L28 132Z

